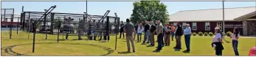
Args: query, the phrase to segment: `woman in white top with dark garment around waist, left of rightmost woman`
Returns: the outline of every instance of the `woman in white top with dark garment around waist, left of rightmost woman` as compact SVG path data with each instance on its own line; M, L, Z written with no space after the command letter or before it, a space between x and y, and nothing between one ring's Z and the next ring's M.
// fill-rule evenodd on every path
M216 56L222 56L222 50L224 50L224 47L222 45L221 41L221 32L220 28L215 28L215 36L212 39L212 47L215 47L215 55Z

